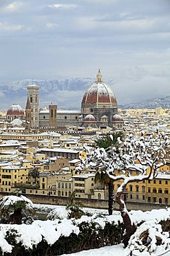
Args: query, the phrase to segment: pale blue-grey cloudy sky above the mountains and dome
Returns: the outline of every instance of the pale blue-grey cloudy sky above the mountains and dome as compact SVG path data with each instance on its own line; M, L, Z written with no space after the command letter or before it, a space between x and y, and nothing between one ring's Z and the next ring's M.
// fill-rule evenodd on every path
M99 66L119 94L170 94L170 1L0 0L0 82Z

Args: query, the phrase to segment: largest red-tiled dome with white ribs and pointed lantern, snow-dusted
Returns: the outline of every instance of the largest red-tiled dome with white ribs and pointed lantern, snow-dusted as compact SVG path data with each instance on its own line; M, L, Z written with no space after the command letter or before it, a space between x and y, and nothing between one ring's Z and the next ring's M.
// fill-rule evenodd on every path
M83 104L111 104L113 107L117 107L116 96L109 86L103 82L100 68L98 69L97 79L89 89L85 92L82 100Z

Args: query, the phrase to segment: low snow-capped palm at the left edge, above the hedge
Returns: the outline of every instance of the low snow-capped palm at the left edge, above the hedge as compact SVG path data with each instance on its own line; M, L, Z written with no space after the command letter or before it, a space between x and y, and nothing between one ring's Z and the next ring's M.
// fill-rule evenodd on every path
M0 217L7 223L21 224L23 217L34 215L32 201L25 196L3 196L0 199Z

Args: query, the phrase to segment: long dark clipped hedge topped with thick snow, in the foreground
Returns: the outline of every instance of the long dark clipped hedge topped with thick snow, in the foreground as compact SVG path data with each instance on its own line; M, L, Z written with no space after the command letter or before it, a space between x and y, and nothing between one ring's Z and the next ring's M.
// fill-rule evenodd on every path
M34 221L31 225L0 224L0 254L62 255L80 250L120 244L123 223L119 217Z

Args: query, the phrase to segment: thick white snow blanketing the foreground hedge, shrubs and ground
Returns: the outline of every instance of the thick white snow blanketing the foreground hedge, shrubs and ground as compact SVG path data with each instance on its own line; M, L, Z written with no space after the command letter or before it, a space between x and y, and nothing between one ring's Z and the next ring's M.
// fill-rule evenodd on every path
M85 208L83 210L87 210L91 212L92 217L87 217L86 215L82 216L81 219L66 219L67 211L64 206L56 206L56 205L35 205L36 209L41 210L42 212L47 212L49 210L56 209L58 216L61 217L61 221L56 219L54 221L34 221L31 225L10 225L10 224L0 224L0 247L3 253L12 253L12 245L8 244L6 241L6 234L8 232L12 232L12 230L16 230L16 241L17 243L21 242L22 246L25 247L25 250L32 249L32 247L43 239L47 241L47 244L54 244L61 236L69 237L72 232L76 235L80 232L78 226L75 225L78 223L82 223L86 221L88 223L94 221L101 228L105 227L105 223L114 222L118 224L119 221L122 222L122 217L119 212L114 212L113 215L108 216L105 215L103 217L98 217L98 213L107 214L107 210L96 210ZM134 234L133 240L129 248L123 248L123 244L119 244L116 246L105 246L104 248L94 249L94 250L86 250L79 253L72 253L72 256L91 256L91 255L102 255L102 256L128 256L132 251L133 256L170 256L170 238L168 232L162 232L160 225L158 224L160 221L166 221L170 219L170 208L160 209L160 210L151 210L150 212L142 212L140 210L134 211L131 210L129 212L131 217L131 221L136 225L143 221L144 223L138 227L136 233ZM138 242L140 232L149 230L149 234L151 236L151 249L152 252L148 253L146 250L142 253L139 250L135 250L136 241ZM140 230L140 232L138 231ZM162 235L163 243L160 246L156 246L156 235ZM141 248L141 247L139 247Z

